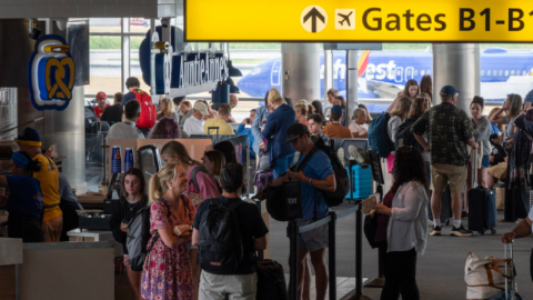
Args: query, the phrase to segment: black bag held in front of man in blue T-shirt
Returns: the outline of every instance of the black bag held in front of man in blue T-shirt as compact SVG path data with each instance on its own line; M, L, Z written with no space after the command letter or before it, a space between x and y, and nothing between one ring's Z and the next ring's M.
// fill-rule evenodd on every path
M284 181L281 187L270 187L266 211L276 221L289 221L303 217L300 181Z

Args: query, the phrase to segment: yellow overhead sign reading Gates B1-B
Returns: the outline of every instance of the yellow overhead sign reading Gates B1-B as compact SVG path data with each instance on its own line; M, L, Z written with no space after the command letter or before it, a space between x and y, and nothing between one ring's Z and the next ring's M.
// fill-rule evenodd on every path
M533 42L533 0L185 0L185 40Z

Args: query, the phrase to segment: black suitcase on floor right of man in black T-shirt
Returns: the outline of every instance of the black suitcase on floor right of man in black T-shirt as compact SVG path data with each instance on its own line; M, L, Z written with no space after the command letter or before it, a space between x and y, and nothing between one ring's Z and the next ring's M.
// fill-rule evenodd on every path
M283 267L274 260L259 261L255 267L258 272L257 300L288 300L285 274Z

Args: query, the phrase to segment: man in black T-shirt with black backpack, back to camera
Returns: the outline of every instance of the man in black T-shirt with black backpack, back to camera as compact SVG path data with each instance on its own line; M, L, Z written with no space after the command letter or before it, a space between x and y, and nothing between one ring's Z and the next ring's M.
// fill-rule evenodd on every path
M255 299L255 251L266 249L269 229L258 207L239 197L243 173L241 164L228 163L220 173L222 196L198 208L192 244L202 267L200 300Z

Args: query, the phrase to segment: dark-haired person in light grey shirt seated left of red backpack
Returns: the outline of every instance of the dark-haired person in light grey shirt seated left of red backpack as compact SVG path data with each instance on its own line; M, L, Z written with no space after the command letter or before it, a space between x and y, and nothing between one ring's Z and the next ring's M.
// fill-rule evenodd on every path
M124 121L113 124L108 131L108 139L144 139L135 123L141 116L141 103L128 101L124 106Z

